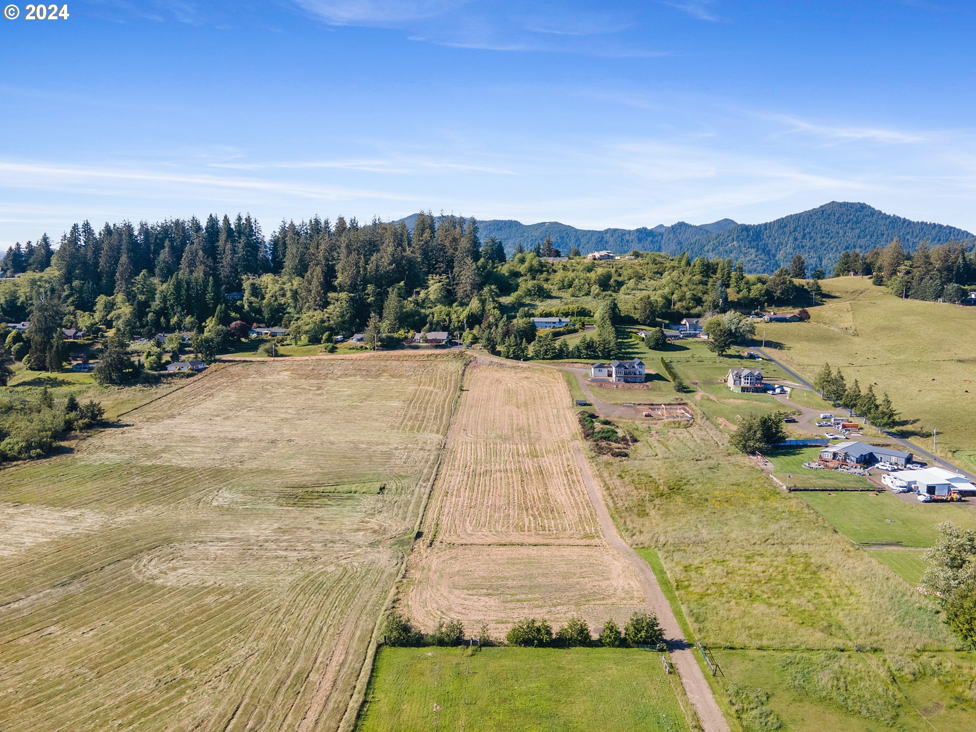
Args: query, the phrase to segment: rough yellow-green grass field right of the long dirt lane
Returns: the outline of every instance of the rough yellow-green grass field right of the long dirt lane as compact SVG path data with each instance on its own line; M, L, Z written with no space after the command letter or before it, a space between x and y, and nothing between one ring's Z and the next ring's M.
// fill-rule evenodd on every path
M610 508L631 546L654 548L641 555L658 577L667 575L666 596L689 635L712 648L724 676L710 682L734 711L733 729L931 729L926 720L944 722L938 729L964 728L973 698L965 684L961 691L953 684L969 678L971 658L953 653L958 639L910 584L915 557L897 557L902 566L889 571L882 563L894 555L879 563L876 552L854 546L827 520L870 516L867 523L887 527L885 518L901 512L883 502L897 499L786 493L751 461L730 454L727 436L707 422L680 430L645 426L637 434L629 460L598 463ZM813 506L834 499L827 518ZM915 508L968 507L894 507L928 540L942 511ZM907 538L898 522L876 538L896 534ZM880 649L870 660L895 670L911 694L885 697L880 707L872 702L886 682L866 656L852 653L855 642ZM922 671L905 667L919 654L950 666L928 669L927 682L916 682ZM850 691L836 688L835 678ZM942 685L957 698L933 691ZM921 716L913 708L919 704Z

